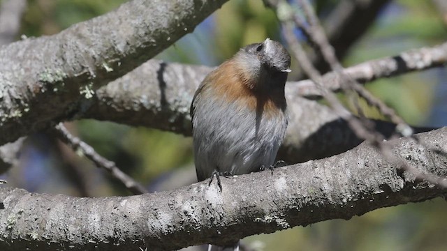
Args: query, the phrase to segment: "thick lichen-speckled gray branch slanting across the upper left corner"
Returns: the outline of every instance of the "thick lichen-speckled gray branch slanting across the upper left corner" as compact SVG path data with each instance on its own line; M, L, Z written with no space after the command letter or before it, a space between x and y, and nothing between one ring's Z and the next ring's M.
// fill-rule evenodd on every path
M69 118L80 97L193 31L226 0L133 0L54 36L0 48L0 144ZM112 28L111 28L112 27Z

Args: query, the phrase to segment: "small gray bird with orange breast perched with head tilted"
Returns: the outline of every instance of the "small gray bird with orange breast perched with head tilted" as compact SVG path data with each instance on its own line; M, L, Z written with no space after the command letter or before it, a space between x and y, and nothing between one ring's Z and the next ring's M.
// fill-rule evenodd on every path
M198 181L217 176L222 189L219 175L274 165L288 123L284 86L290 66L286 48L267 38L242 47L203 79L190 110ZM208 250L237 251L239 242Z

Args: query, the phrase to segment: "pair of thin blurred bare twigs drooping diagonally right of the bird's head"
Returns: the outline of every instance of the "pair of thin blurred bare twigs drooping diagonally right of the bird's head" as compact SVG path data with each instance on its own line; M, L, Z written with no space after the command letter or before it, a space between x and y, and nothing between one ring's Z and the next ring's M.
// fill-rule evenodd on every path
M341 75L342 73L342 66L337 61L337 58L335 57L335 53L333 51L333 48L328 44L328 41L325 39L325 34L323 33L323 29L318 24L318 20L316 19L314 12L312 10L312 6L310 5L309 1L307 0L299 0L300 5L304 9L305 15L307 15L307 22L309 23L309 27L305 25L305 23L298 17L295 18L295 23L300 26L301 29L304 29L306 33L309 35L309 37L314 40L314 42L318 45L319 49L325 56L325 59L330 63L330 66L335 70L335 73L339 74L342 79L346 83L349 83L349 85L344 86L342 85L343 89L349 90L353 89L356 90L358 93L367 93L367 91L361 89L358 91L357 86L359 86L356 82L353 82L352 79L347 79L346 76ZM440 185L443 188L447 187L447 181L445 178L440 178L437 176L432 176L430 174L423 174L422 172L419 172L416 168L409 165L409 163L404 162L400 158L395 158L393 155L390 154L390 146L383 142L386 138L383 137L379 132L376 132L374 128L372 127L371 123L368 123L366 119L364 118L356 118L353 116L350 112L348 112L341 102L335 97L334 93L331 91L328 91L328 89L325 89L325 86L323 86L323 83L321 82L322 77L318 73L318 71L312 66L311 61L308 59L304 49L300 45L300 42L297 38L295 38L293 33L293 19L291 18L291 13L287 13L288 9L288 3L286 1L279 1L278 3L272 3L272 6L277 9L277 13L279 17L281 18L281 23L284 26L284 36L288 42L288 44L291 47L291 52L295 55L295 58L298 59L298 62L300 63L300 66L305 70L305 73L309 75L309 77L312 79L314 83L316 83L316 86L318 89L320 89L321 93L323 94L324 98L328 100L330 107L336 112L340 117L345 119L349 123L349 127L356 133L358 137L361 137L362 139L365 139L367 142L372 144L373 146L376 146L378 149L381 150L381 153L383 156L387 158L388 161L395 163L395 165L400 166L402 169L404 169L407 172L411 172L414 176L416 176L419 179L423 179L426 181L430 181L434 185ZM295 15L296 17L296 15ZM365 96L364 96L365 98ZM404 123L400 117L398 117L396 114L394 114L392 109L389 109L386 107L386 105L381 105L380 100L376 100L375 98L372 98L370 96L367 96L367 98L371 98L369 102L376 102L379 104L379 108L381 109L381 112L388 112L386 115L390 116L391 119L394 121L397 121L399 124L396 127L396 129L400 129L400 132L406 132L403 135L412 135L413 130ZM387 108L383 109L383 107ZM390 112L391 111L391 112ZM404 129L399 128L399 126L403 126Z

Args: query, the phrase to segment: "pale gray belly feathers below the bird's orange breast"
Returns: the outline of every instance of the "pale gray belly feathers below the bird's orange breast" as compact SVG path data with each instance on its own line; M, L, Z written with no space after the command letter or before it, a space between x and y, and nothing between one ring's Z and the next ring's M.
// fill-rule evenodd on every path
M193 145L199 181L209 178L214 169L238 175L273 165L286 132L284 112L256 114L223 98L198 97L195 102Z

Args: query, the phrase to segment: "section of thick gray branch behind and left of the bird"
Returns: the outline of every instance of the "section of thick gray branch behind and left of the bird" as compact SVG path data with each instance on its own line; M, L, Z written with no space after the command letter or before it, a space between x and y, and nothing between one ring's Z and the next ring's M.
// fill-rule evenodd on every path
M212 68L150 60L82 100L75 119L98 119L191 135L189 107Z

